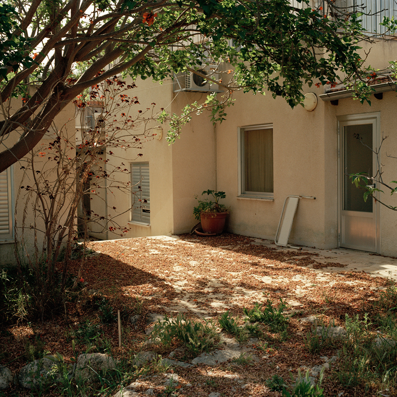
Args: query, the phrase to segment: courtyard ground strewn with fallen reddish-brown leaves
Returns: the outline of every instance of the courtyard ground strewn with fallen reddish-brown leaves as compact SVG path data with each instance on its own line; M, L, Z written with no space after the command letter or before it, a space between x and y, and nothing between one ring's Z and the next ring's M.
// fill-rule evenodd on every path
M181 397L207 397L211 393L212 396L217 393L219 396L281 396L280 392L266 387L266 379L277 374L290 384L290 374L296 377L298 370L305 372L324 365L337 355L336 347L318 355L308 352L303 337L312 323L306 321L307 318L315 316L326 324L334 321L335 326L342 326L346 314L363 316L377 299L378 291L385 288L387 279L369 275L359 268L346 271L346 265L325 264L318 254L304 248L284 250L258 244L258 241L233 234L97 241L90 243L89 248L99 254L88 258L83 265L76 261L71 270L84 279L87 297L101 291L114 308L129 307L139 313L140 320L135 327L125 324L123 349L117 346L117 325L105 327L116 355L124 354L126 349L149 350L144 344L144 331L150 313L167 316L183 313L195 321L216 321L227 310L241 317L243 308L250 309L255 302L265 303L270 299L276 305L281 298L288 304L287 313L291 316L286 338L281 340L278 334L267 334L266 341L251 340L252 360L247 362L229 360L217 366L200 364L174 369L179 379L174 393ZM49 351L59 351L66 361L70 359L73 353L66 330L93 318L87 302L89 298L77 305L69 304L65 318L36 328L8 327L13 338L9 357L17 356L17 349L23 349L22 344L29 335L31 338L40 332ZM0 343L10 345L5 337L0 338ZM159 347L157 352L166 357L171 350ZM8 359L2 363L6 361ZM22 359L14 360L10 366L17 371L22 363ZM327 397L339 393L343 393L340 394L343 397L379 396L376 389L366 393L358 388L343 389L329 374L326 370L322 385ZM135 396L146 396L151 393L148 390L155 396L165 395L164 374L152 373L137 382L138 386L133 389Z

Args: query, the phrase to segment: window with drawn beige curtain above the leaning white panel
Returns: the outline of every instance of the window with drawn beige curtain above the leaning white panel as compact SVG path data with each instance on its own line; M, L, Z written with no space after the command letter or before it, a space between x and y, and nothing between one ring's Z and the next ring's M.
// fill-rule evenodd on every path
M240 129L240 196L273 197L273 126Z

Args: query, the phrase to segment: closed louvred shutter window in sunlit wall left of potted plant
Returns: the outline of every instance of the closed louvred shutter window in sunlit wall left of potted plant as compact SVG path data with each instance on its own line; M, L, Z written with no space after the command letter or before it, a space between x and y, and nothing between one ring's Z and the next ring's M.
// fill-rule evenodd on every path
M149 163L131 164L132 222L150 224Z

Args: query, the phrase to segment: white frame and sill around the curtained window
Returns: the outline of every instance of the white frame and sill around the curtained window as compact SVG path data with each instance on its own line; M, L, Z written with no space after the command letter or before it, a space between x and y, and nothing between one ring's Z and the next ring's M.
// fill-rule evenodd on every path
M239 180L239 189L238 194L239 198L242 199L262 199L262 200L274 200L274 192L248 192L245 191L245 162L244 162L244 133L246 131L252 130L273 130L273 124L262 124L256 126L244 126L238 128L238 158L239 158L239 170L238 170L238 180ZM273 155L273 165L274 165L274 155ZM274 191L274 175L273 175L273 191Z

